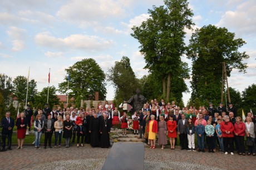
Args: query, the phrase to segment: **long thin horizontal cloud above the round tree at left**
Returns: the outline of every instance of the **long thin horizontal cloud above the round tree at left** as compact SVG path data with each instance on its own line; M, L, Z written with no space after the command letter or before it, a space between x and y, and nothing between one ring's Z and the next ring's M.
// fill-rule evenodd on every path
M39 33L35 36L35 43L42 47L55 49L80 49L80 50L103 50L112 45L112 40L93 35L72 34L65 38L56 38L50 33Z

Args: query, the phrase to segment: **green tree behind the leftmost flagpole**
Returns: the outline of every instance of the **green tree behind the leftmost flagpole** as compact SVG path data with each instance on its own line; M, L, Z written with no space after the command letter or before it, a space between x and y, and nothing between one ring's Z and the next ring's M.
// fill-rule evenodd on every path
M37 94L37 84L35 80L28 81L28 99L27 102L32 102L35 100L35 95ZM18 104L20 102L26 102L27 96L27 78L24 76L17 76L13 80L13 96L17 97Z

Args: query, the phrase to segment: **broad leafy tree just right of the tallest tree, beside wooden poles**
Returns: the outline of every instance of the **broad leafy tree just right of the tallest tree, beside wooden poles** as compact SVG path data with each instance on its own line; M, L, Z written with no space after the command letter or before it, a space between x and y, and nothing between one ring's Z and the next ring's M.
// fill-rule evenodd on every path
M208 25L195 30L187 52L188 58L193 61L191 99L198 97L200 101L220 101L223 62L228 76L233 69L245 72L247 63L242 61L249 56L238 51L244 44L243 39L235 39L235 34L228 32L227 28Z

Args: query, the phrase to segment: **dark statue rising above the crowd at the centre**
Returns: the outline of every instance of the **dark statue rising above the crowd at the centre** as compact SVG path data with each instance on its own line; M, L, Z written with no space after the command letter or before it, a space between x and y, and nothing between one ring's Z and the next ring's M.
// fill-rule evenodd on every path
M136 95L131 96L130 100L127 101L127 104L132 106L131 114L134 114L135 111L139 112L146 103L146 100L147 99L140 94L140 89L137 89Z

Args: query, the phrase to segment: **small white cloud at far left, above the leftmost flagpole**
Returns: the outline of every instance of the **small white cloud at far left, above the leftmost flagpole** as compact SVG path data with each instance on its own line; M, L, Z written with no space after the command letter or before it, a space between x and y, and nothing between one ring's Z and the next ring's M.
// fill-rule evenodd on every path
M26 29L21 29L17 27L10 27L7 30L7 34L12 40L12 50L13 51L21 51L25 47L24 43L24 33L26 33Z

